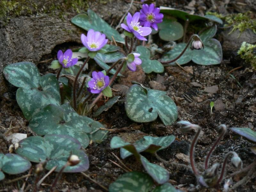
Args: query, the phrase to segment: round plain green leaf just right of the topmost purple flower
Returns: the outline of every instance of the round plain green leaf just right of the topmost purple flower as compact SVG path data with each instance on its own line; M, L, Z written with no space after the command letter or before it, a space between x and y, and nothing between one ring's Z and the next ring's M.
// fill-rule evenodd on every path
M159 37L162 40L175 41L184 35L183 26L176 22L176 20L168 18L168 15L164 15L163 22L158 24L158 28Z

